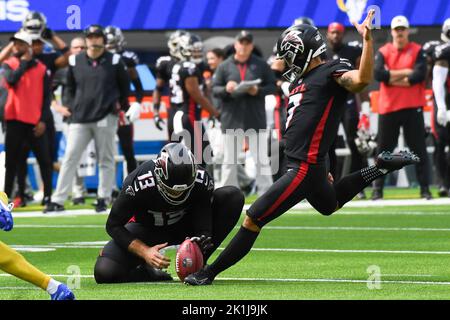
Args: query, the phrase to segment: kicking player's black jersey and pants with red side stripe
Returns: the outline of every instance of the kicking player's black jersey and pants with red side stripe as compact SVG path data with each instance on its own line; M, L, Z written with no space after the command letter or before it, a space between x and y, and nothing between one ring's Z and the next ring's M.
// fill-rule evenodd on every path
M331 214L354 196L350 189L361 190L361 186L369 184L362 181L360 172L355 173L358 177L343 178L335 185L327 180L326 156L348 97L348 91L337 84L335 77L352 69L348 60L329 61L291 85L283 137L288 171L247 211L255 224L264 226L305 198L317 211Z

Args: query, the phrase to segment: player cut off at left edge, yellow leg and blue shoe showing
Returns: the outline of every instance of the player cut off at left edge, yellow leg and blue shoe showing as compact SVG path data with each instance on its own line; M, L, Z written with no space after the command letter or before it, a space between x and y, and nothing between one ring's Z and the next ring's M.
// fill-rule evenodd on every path
M13 206L8 205L6 193L0 192L0 230L11 231L14 226L11 210ZM35 286L47 291L52 300L75 300L70 289L35 266L30 264L17 251L11 249L0 241L0 270L3 270L17 278L28 281Z

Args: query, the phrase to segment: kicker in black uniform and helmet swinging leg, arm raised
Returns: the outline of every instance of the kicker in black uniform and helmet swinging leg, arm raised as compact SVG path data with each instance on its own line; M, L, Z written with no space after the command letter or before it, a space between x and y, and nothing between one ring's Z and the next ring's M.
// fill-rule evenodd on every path
M325 157L333 143L344 112L348 92L359 92L372 81L373 47L370 10L362 25L355 23L364 39L359 70L348 60L323 62L326 45L319 30L309 25L293 26L280 36L277 56L289 68L292 83L286 122L288 171L248 209L243 225L219 257L209 266L189 275L190 285L211 284L217 274L241 260L268 222L308 199L320 213L330 215L350 201L373 179L418 161L408 152L383 153L377 164L342 178L327 179Z

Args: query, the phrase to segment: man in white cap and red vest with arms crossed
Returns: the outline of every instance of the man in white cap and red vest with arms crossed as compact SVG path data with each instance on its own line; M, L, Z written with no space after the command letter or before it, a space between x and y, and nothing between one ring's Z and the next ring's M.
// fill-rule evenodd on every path
M426 55L419 44L409 41L406 17L392 19L391 35L393 41L381 47L375 56L374 77L380 81L378 151L394 150L401 127L406 144L421 159L416 165L420 196L431 199L423 119ZM375 181L373 200L383 198L383 185L384 178Z

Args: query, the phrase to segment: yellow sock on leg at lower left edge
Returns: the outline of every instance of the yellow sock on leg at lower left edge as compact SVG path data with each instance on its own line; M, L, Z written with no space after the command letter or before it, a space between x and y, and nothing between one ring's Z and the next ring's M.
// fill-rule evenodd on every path
M17 251L0 241L0 269L47 290L50 277L31 265Z

